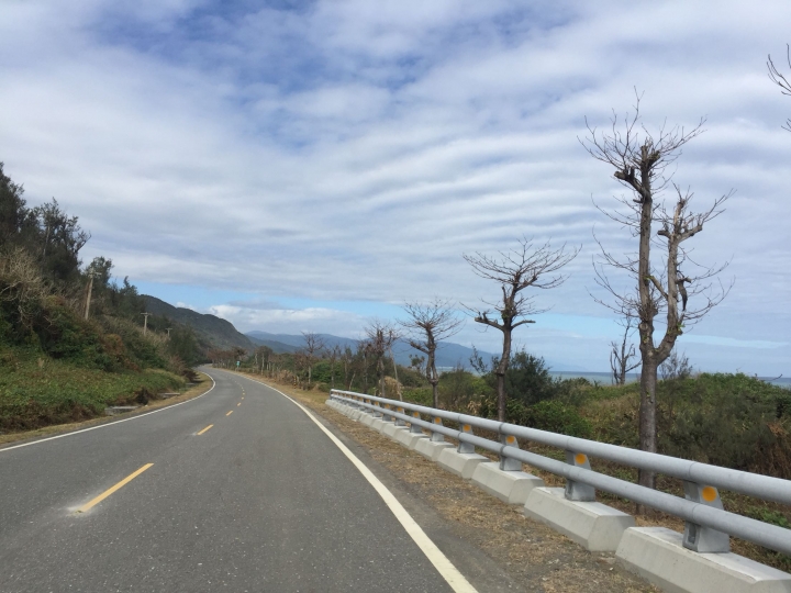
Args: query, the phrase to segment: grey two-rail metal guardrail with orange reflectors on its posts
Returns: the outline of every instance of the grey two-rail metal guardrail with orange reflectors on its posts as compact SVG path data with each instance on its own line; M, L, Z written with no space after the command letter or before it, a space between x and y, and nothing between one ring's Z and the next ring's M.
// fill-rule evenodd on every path
M500 457L500 469L504 471L520 471L522 463L527 463L566 478L568 500L595 501L595 489L599 489L678 516L686 522L683 545L691 550L727 552L731 550L728 535L732 535L791 555L791 529L725 511L718 492L718 489L729 490L756 499L791 505L789 480L352 391L332 390L330 398L375 416L381 416L385 422L410 424L412 432L425 429L432 440L443 440L446 436L454 438L459 443L459 452L474 452L476 447L492 451ZM408 414L408 411L411 414ZM423 419L422 415L430 416L432 421ZM460 429L444 426L443 419L458 423ZM476 436L474 428L497 433L500 441ZM566 462L520 449L517 438L564 449ZM684 484L684 497L598 473L591 469L589 456L680 478Z

